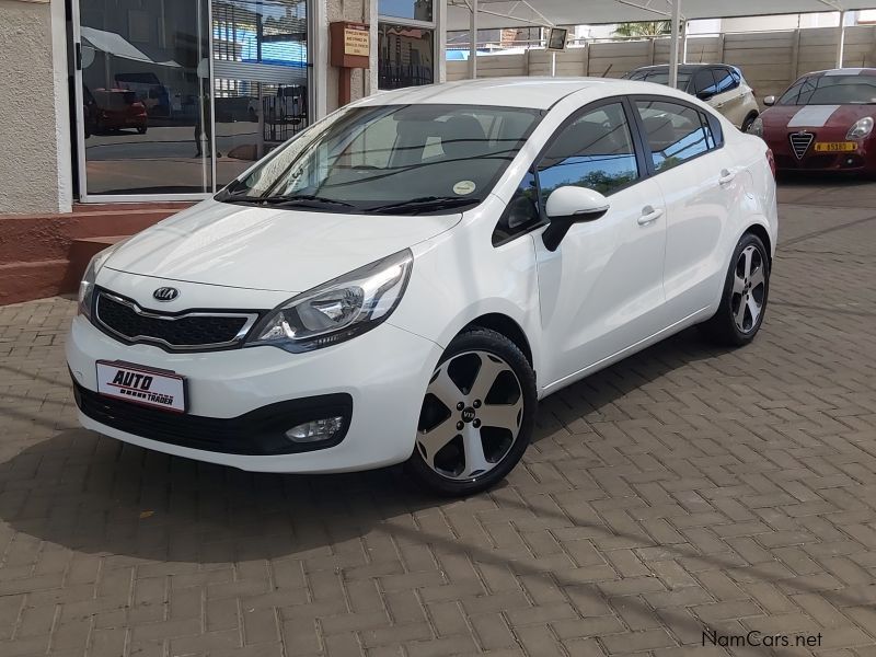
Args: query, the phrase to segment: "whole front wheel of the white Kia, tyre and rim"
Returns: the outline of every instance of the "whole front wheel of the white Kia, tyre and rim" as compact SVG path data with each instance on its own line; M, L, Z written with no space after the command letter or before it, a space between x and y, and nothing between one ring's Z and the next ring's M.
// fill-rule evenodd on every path
M532 366L511 341L488 328L461 333L429 380L407 472L440 495L489 488L523 456L537 404Z

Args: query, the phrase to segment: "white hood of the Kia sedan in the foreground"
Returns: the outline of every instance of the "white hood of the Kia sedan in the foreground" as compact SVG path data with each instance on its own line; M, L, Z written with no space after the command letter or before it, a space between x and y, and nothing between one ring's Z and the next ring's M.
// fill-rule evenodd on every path
M205 200L119 245L104 267L168 280L301 292L459 222Z

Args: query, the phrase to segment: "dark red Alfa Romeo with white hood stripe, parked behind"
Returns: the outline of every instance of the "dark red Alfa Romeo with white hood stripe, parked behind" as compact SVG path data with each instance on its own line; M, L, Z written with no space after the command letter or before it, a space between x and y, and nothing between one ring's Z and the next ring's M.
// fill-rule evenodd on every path
M749 129L773 151L781 171L843 171L876 176L876 69L807 73L766 96Z

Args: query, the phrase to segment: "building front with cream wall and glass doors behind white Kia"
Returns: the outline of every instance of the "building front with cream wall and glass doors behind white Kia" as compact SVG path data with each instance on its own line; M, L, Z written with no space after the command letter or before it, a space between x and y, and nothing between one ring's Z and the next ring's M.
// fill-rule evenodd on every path
M0 0L0 215L193 201L350 97L443 74L439 0Z

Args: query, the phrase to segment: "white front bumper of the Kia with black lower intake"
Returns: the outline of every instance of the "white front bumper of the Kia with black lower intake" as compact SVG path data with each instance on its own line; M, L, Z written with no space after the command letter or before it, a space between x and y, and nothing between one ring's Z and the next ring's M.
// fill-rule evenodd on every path
M348 472L406 460L428 379L441 348L384 322L348 342L307 354L260 346L169 353L126 345L84 316L73 320L67 361L79 420L112 438L253 472ZM172 370L186 379L185 415L148 410L96 393L97 360ZM283 433L301 413L348 410L339 442L283 451ZM84 412L83 412L84 411ZM288 426L284 424L288 417ZM285 428L284 428L285 427ZM331 443L330 443L331 445Z

